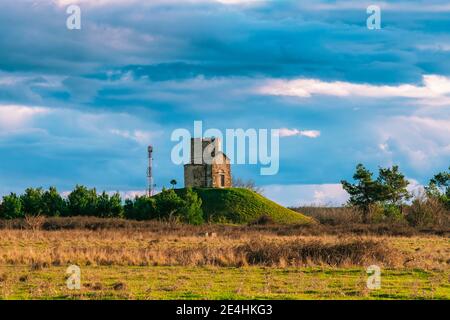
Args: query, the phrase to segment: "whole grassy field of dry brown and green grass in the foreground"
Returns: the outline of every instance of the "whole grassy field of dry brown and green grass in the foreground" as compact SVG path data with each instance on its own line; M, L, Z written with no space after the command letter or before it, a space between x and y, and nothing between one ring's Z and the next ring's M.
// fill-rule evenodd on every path
M14 223L0 229L4 299L450 299L450 240L440 231ZM72 264L80 290L66 287ZM381 289L366 287L372 264Z

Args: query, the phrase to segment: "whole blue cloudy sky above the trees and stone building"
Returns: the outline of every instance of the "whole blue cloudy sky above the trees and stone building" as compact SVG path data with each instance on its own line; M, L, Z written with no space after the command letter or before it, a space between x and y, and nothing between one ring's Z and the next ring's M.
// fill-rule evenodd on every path
M233 167L285 205L345 201L359 162L414 185L450 164L448 1L3 0L0 49L0 194L139 192L148 144L181 184L170 134L194 120L289 129L277 175Z

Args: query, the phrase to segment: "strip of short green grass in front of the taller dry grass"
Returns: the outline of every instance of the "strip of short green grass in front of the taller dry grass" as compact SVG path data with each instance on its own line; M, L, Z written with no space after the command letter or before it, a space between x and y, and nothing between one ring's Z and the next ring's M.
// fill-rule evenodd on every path
M2 299L450 299L448 271L387 269L381 289L366 288L364 268L81 268L80 290L65 267L0 267ZM27 275L25 281L20 277ZM117 286L117 284L121 284Z

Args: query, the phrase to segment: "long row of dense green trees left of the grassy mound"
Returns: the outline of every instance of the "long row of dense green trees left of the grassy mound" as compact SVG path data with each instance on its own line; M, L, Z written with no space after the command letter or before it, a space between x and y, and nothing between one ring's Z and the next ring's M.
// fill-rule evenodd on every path
M0 204L1 219L17 219L26 216L69 217L95 216L135 220L169 219L185 223L203 222L201 199L187 188L178 195L173 189L163 189L155 197L137 196L124 202L119 193L100 194L96 189L77 185L62 197L55 187L28 188L22 195L11 193Z

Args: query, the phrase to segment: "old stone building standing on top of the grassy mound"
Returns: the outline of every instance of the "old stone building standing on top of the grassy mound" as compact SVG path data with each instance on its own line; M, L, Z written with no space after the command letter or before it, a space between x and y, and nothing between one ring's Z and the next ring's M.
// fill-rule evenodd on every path
M185 187L230 188L230 159L218 138L192 138L190 163L184 165Z

